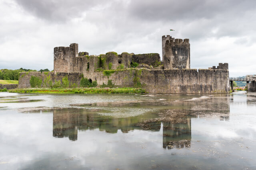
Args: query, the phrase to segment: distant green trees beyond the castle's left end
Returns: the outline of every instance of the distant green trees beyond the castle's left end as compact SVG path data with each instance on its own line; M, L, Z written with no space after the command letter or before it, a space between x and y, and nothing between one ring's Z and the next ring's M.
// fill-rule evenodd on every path
M25 68L20 68L17 70L1 69L0 80L19 80L19 73L24 71L30 72L30 71L37 71L37 70L31 70L31 69L25 69ZM46 68L38 71L43 72L43 71L50 71L50 70Z

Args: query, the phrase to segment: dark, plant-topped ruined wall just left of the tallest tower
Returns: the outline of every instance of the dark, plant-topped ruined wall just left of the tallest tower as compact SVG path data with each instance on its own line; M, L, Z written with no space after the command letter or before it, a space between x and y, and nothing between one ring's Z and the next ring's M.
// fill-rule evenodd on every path
M154 65L156 61L160 61L160 55L158 53L136 54L132 55L132 61L138 64Z

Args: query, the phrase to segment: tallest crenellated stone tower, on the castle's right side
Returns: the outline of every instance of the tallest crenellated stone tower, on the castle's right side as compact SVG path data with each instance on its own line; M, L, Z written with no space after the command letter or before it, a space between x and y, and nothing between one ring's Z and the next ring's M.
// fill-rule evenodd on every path
M164 68L190 68L190 43L189 39L172 39L166 37L164 45ZM164 43L163 41L163 43Z

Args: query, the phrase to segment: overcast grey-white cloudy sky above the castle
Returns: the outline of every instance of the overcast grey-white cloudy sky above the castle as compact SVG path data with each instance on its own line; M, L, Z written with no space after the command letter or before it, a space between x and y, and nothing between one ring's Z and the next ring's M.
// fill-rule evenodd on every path
M0 11L0 68L53 70L53 48L70 43L162 57L171 35L190 39L191 68L256 74L255 0L0 0Z

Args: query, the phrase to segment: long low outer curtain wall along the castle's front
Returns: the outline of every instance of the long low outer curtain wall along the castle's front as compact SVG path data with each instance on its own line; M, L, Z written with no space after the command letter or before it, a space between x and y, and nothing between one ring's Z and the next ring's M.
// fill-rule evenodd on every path
M53 72L22 72L19 78L19 88L30 88L31 76L38 76L44 79L50 75L54 80L62 81L68 76L70 84L80 84L79 73ZM213 69L170 69L170 70L150 70L150 69L128 69L114 70L106 75L104 72L90 72L84 77L97 81L98 86L107 84L108 80L120 87L142 87L150 93L166 94L200 94L200 93L228 93L230 90L228 70ZM43 86L43 83L42 83Z

